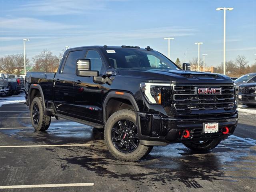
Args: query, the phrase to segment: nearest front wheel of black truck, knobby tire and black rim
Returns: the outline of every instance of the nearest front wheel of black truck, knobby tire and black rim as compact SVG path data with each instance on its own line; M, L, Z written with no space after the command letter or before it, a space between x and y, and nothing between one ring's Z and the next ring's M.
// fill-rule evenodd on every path
M119 160L134 162L152 149L140 144L135 112L128 109L110 116L105 125L104 138L111 154Z

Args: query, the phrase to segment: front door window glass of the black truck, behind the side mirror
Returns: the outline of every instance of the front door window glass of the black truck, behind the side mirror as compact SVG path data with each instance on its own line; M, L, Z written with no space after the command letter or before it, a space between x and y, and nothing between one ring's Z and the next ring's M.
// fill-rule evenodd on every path
M97 51L89 50L86 54L86 59L91 60L91 70L99 71L102 74L104 71L103 63L100 58L100 54Z

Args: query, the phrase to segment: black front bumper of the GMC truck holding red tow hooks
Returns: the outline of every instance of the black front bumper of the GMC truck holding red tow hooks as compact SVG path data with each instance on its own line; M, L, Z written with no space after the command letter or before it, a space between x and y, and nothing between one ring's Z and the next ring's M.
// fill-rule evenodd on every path
M162 117L158 114L136 112L138 136L144 145L167 145L184 141L204 141L214 138L227 138L233 134L238 123L238 111L233 114L214 116L187 116L186 118ZM203 124L210 122L219 123L219 132L204 134ZM225 127L229 128L228 134L223 134ZM182 134L185 130L190 132L189 138Z

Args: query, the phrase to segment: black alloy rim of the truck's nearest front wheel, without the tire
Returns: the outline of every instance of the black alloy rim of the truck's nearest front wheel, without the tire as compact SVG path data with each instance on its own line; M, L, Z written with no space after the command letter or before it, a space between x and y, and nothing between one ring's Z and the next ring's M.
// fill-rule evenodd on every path
M133 152L140 142L137 126L129 120L119 120L114 124L111 139L115 148L123 153Z

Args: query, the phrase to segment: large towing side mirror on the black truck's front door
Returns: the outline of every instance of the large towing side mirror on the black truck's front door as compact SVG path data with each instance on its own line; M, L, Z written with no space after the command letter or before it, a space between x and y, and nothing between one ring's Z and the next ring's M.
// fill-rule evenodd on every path
M78 59L76 60L76 75L77 76L99 76L98 71L91 71L90 59Z

